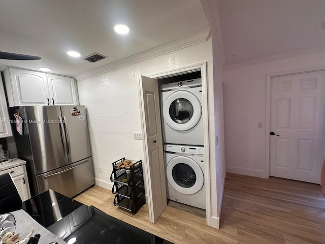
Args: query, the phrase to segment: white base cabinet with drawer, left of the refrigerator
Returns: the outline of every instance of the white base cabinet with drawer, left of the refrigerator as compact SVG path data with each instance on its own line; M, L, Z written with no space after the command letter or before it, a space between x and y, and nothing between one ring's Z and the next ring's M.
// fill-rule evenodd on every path
M10 173L18 190L20 198L25 201L30 198L29 184L26 166L20 165L6 170L1 170L0 174Z

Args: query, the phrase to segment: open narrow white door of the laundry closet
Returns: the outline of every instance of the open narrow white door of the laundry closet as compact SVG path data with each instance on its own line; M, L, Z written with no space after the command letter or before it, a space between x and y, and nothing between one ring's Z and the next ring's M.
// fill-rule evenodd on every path
M139 77L143 140L148 182L149 218L155 223L167 206L163 139L157 80Z

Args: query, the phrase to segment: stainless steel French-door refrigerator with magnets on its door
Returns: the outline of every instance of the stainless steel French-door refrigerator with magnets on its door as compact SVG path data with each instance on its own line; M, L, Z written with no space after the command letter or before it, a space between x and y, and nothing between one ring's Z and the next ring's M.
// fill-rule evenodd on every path
M14 113L23 120L14 135L32 195L52 189L73 197L95 184L84 106L23 106Z

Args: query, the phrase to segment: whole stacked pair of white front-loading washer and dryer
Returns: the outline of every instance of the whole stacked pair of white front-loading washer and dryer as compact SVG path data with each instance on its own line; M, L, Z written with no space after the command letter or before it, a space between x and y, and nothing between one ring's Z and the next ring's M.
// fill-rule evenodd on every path
M206 209L202 80L160 86L167 198Z

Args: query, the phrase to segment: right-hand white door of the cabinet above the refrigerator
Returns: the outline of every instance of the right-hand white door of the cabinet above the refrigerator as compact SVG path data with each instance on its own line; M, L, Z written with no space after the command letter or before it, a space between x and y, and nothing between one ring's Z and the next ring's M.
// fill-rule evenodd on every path
M78 105L79 99L75 79L48 74L51 105Z

